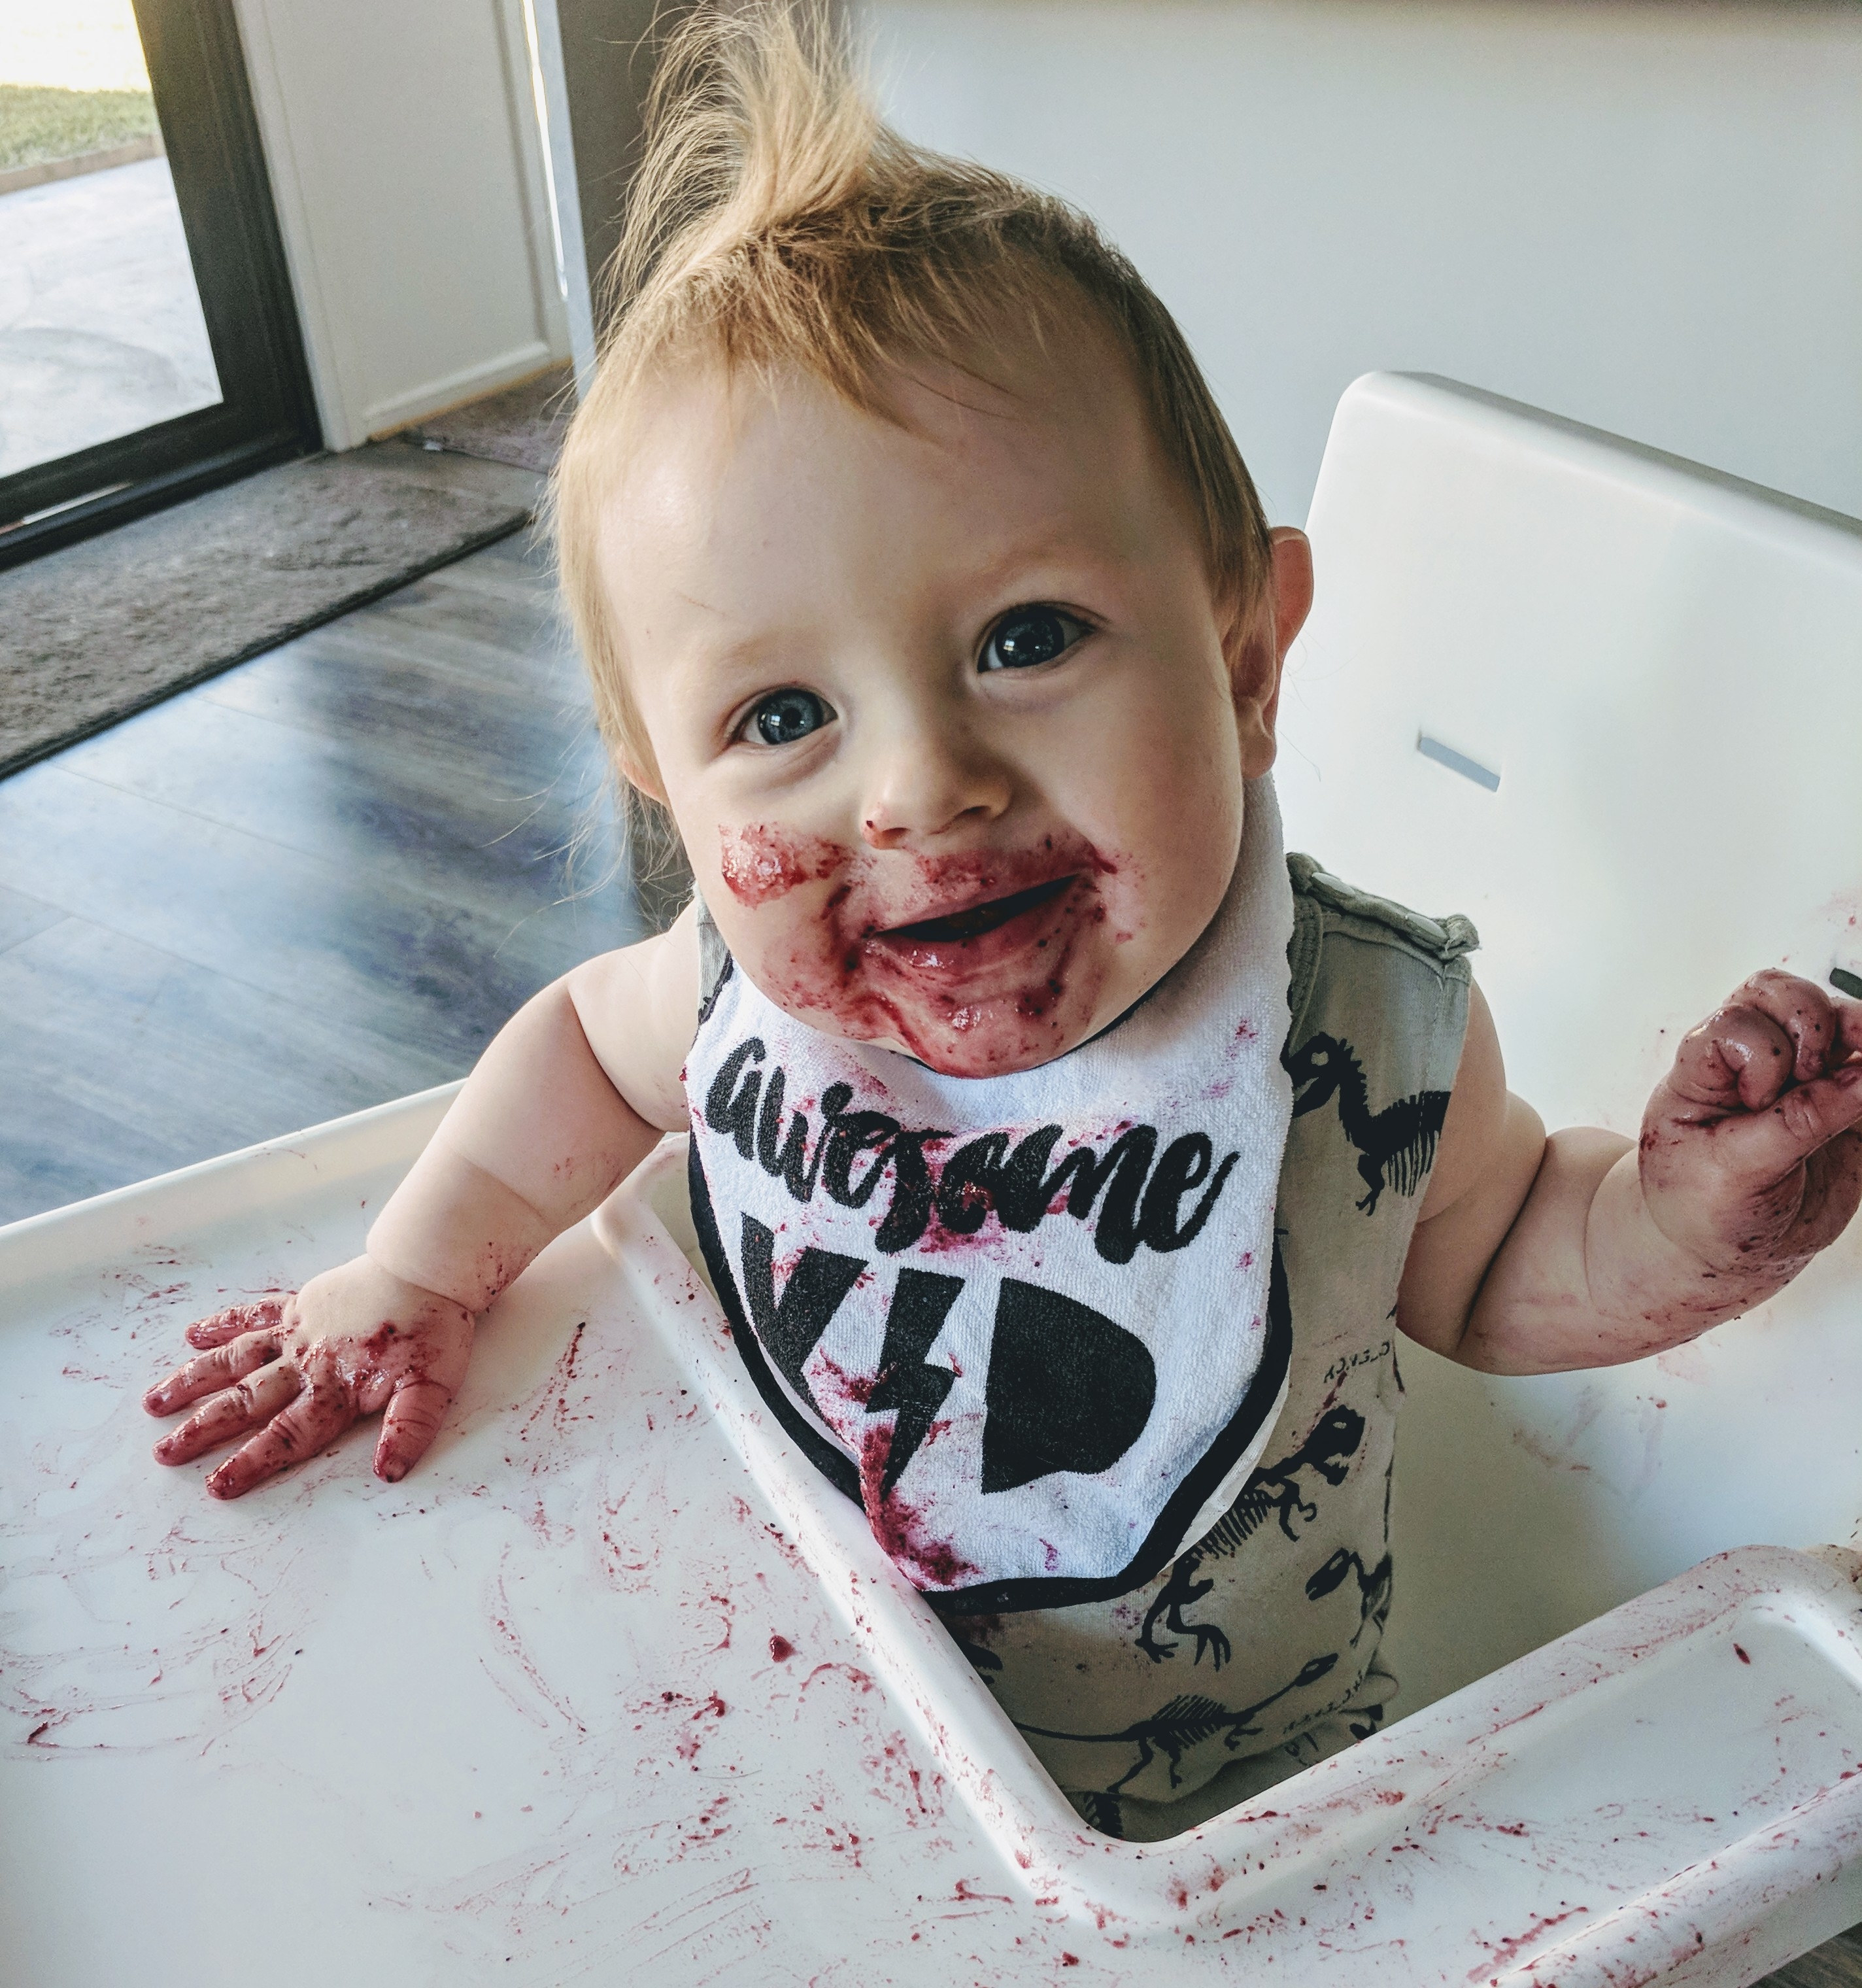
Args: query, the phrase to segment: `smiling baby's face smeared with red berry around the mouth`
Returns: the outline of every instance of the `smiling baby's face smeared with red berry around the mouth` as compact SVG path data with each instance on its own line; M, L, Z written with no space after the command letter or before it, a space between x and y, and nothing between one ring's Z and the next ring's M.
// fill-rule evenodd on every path
M815 1028L954 1076L1065 1054L1151 988L1272 761L1123 368L1008 392L656 388L604 517L628 680L739 968Z

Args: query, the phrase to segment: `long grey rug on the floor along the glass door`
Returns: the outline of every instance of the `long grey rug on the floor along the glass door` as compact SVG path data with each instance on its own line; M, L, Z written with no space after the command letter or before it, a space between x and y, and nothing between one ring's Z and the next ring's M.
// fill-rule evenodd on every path
M529 521L312 455L0 573L0 775Z

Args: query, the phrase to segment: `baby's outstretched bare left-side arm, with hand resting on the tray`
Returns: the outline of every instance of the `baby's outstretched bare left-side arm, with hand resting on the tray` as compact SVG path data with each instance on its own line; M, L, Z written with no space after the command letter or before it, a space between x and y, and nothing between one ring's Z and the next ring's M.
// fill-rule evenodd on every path
M479 1060L366 1254L189 1326L199 1358L145 1406L205 1404L157 1459L242 1439L207 1479L238 1497L382 1411L376 1475L403 1477L465 1378L475 1314L686 1121L678 1074L696 1014L690 912L544 988Z

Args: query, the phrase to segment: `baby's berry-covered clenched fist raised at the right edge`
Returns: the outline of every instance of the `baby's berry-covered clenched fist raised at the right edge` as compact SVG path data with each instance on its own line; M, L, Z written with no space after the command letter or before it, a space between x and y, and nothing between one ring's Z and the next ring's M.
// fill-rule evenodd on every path
M1858 1125L1862 1002L1794 974L1753 974L1681 1040L1643 1113L1649 1217L1757 1304L1856 1213Z

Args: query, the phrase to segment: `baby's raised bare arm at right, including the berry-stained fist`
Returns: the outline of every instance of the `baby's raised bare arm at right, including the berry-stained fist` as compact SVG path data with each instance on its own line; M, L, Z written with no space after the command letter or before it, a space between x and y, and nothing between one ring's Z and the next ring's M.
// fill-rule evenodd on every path
M1763 1304L1862 1199L1862 1006L1757 974L1681 1044L1641 1141L1544 1135L1478 992L1397 1306L1494 1374L1639 1360Z

